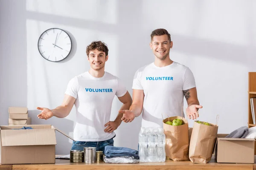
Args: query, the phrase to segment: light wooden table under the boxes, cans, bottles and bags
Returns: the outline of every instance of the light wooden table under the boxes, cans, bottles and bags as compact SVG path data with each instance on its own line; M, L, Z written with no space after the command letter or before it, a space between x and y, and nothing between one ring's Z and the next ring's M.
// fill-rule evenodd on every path
M1 165L0 167L2 167ZM1 168L0 168L1 169ZM55 164L14 164L13 170L256 170L256 164L217 163L194 164L191 161L171 161L138 164L106 164L105 162L85 164L70 163L70 160L56 159ZM7 170L7 169L6 169Z

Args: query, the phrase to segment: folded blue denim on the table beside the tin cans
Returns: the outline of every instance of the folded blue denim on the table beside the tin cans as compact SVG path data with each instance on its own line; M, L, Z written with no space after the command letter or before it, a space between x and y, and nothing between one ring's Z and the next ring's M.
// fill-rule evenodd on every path
M105 156L107 158L114 158L119 156L133 156L135 159L139 159L139 153L137 150L130 149L128 147L115 147L105 146Z

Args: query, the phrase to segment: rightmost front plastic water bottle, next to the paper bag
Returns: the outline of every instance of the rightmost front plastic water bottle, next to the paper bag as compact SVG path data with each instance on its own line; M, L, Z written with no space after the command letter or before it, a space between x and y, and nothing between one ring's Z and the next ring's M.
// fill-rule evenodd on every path
M166 160L165 153L166 136L163 133L163 128L157 128L157 161L164 162Z

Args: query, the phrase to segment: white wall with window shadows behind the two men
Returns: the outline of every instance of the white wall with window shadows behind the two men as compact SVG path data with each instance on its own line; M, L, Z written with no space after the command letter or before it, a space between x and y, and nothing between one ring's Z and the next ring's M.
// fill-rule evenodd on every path
M135 71L154 61L150 34L166 28L174 43L171 59L194 73L203 109L200 119L218 133L247 125L248 71L256 71L256 1L177 0L0 0L0 125L8 107L25 106L33 124L52 124L73 136L75 109L64 119L37 119L37 106L60 105L68 81L89 69L85 48L108 44L106 71L120 77L132 94ZM67 31L71 55L49 62L38 52L41 33ZM156 101L157 102L157 101ZM113 120L120 108L115 98ZM116 130L116 146L137 148L141 116ZM192 127L192 120L189 121ZM57 133L57 154L68 154L71 140Z

